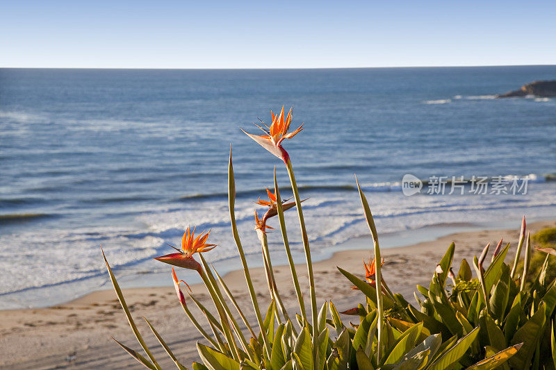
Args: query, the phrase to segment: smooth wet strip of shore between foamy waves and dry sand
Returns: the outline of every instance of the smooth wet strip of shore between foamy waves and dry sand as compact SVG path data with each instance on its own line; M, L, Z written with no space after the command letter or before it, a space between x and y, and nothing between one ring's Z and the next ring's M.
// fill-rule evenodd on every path
M534 224L539 221L550 221L550 217L530 217L531 223ZM380 246L381 250L386 251L387 249L397 249L406 246L411 246L421 242L434 242L436 239L445 237L450 234L456 233L466 233L466 232L478 232L480 230L510 230L516 228L518 224L514 220L502 220L502 221L492 221L488 224L473 224L468 222L462 223L445 223L445 224L434 224L429 226L423 226L420 228L401 230L398 232L383 233L380 235ZM313 264L329 260L334 258L334 255L342 251L360 251L371 249L372 244L368 235L352 237L344 242L334 244L332 246L326 246L324 248L318 248L311 250L311 257ZM292 249L293 260L297 262L304 262L304 253L302 250ZM271 250L270 254L272 256L272 263L275 267L287 266L288 261L284 255L283 247L277 250ZM111 262L110 255L107 255L108 262ZM247 263L250 268L261 268L262 261L259 253L250 253L246 255ZM224 258L223 260L217 260L212 262L219 271L221 276L227 276L234 271L240 271L239 257L234 256L230 258ZM140 273L126 273L118 268L113 268L114 274L117 276L118 283L122 289L142 289L142 288L167 288L172 287L172 280L167 269L159 269L163 271L145 271ZM201 283L199 276L192 271L184 271L183 280L186 280L190 285L195 285ZM107 276L103 279L102 283L97 286L95 290L90 290L85 294L78 294L77 292L83 292L84 284L88 282L85 280L76 280L70 283L63 283L60 285L54 285L51 287L43 288L31 288L24 289L24 291L3 294L0 296L0 301L3 300L3 304L0 303L0 312L6 312L10 310L33 310L40 308L51 308L57 305L67 305L74 301L79 301L85 298L89 294L95 294L99 291L111 291L112 285ZM70 293L68 293L70 292ZM24 305L23 302L29 298L30 301L42 301L42 304L32 304Z

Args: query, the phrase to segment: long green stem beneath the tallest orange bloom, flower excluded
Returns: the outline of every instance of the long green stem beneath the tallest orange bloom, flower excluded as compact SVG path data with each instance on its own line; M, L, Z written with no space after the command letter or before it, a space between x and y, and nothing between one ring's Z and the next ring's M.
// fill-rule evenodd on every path
M307 274L309 275L309 294L311 295L311 319L313 325L313 358L318 360L318 312L317 312L317 298L315 293L315 278L313 277L313 262L311 262L311 249L309 248L309 237L307 237L307 230L305 228L305 220L303 218L303 210L301 208L300 193L297 190L297 183L293 174L293 167L290 158L286 160L286 169L290 176L291 190L293 198L295 199L295 208L297 208L297 217L300 220L301 236L303 239L303 249L305 251L305 260L307 263Z

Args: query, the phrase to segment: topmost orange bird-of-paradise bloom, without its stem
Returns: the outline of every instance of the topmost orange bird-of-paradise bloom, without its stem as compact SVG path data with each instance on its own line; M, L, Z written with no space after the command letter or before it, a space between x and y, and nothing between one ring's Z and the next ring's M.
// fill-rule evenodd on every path
M261 128L266 135L252 135L250 133L246 133L243 129L241 131L251 137L264 149L270 151L270 153L276 155L278 158L281 158L284 162L287 162L289 155L288 152L281 146L281 142L284 141L284 139L291 139L297 135L297 133L302 131L303 124L301 124L297 130L288 133L291 125L292 114L290 108L288 115L284 117L284 106L282 106L282 110L279 115L275 115L274 112L270 110L270 116L272 117L272 124L270 124L270 126L264 124L266 128L263 128L256 125Z

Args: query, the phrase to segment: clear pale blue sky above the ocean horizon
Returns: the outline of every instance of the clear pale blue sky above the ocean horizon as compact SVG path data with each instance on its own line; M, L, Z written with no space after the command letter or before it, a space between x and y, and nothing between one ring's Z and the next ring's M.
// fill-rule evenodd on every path
M0 0L0 67L556 64L556 1Z

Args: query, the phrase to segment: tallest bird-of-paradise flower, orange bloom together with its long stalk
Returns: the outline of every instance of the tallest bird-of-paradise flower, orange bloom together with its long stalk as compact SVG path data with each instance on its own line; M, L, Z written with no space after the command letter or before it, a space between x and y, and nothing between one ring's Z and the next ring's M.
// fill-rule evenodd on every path
M302 201L300 198L299 190L297 190L297 183L295 181L295 176L293 174L293 167L291 164L290 155L288 155L286 149L284 149L284 147L281 146L281 143L285 139L291 139L292 137L297 135L297 133L302 131L303 124L299 126L295 131L288 133L291 125L291 120L292 120L291 109L288 112L287 117L285 118L284 118L284 106L282 106L280 115L278 116L275 115L272 112L272 110L270 111L270 115L272 117L272 124L270 126L265 125L266 126L265 129L257 125L259 126L259 128L261 128L261 130L263 130L266 133L266 135L252 135L250 133L246 133L243 130L242 131L247 136L251 137L252 140L257 142L259 145L263 146L264 149L266 149L273 155L276 155L278 158L283 160L284 164L286 165L288 176L290 178L291 189L293 192L293 198L295 200L295 206L297 207L297 218L300 221L300 229L301 229L301 235L303 240L303 249L304 249L305 261L307 265L307 275L309 276L309 294L311 296L311 325L313 326L313 341L315 341L316 338L318 337L318 331L317 331L318 312L317 312L317 299L316 299L316 292L315 292L315 278L313 276L313 262L311 260L311 249L309 247L309 237L307 236L305 220L303 217L303 210L301 208ZM318 346L316 346L315 342L313 342L313 358L315 360L318 360Z

